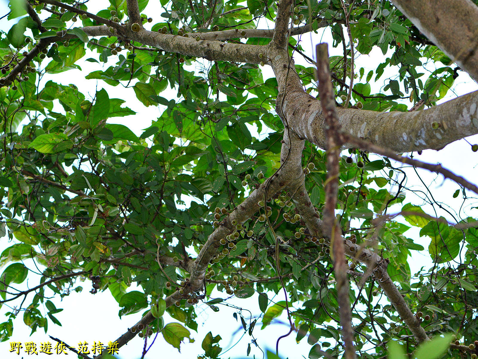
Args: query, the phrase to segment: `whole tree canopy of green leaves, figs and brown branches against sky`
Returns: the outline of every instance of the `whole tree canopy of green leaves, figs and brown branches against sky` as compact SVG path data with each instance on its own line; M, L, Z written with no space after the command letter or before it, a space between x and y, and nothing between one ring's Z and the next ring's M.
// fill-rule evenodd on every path
M111 338L119 348L158 334L180 348L197 305L256 295L262 314L240 315L247 335L287 313L284 334L307 340L309 358L402 358L419 345L417 358L477 357L478 188L400 155L478 133L478 91L437 104L464 72L478 80L476 1L9 4L0 305L14 309L1 341L20 315L32 332L58 325L48 298L86 291L76 280L88 279L120 316L144 313ZM325 29L342 55L301 42ZM376 47L375 71L354 66ZM67 76L86 62L96 69L83 71L91 91L81 93ZM140 136L129 96L157 107ZM405 197L403 166L455 181L467 211L449 211L424 183L436 209L425 213ZM413 273L412 251L427 252L430 268ZM42 279L18 289L26 259ZM278 292L285 301L272 300ZM164 323L165 311L176 321ZM201 339L200 356L228 357L217 334Z

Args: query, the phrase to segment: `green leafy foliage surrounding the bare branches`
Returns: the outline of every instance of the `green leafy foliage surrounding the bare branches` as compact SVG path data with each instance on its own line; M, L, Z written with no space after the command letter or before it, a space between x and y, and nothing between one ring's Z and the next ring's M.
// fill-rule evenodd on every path
M92 6L72 0L64 3L81 10ZM24 51L32 50L35 40L53 37L59 31L76 38L49 45L22 73L22 82L0 88L0 236L14 241L0 255L0 294L3 300L11 300L11 294L7 294L13 291L10 284L28 278L29 271L22 264L26 258L33 258L43 269L39 284L46 278L58 280L41 286L28 297L30 302L25 302L25 307L21 305L21 309L8 313L0 324L1 340L9 339L12 319L22 312L24 323L32 331L43 327L46 332L50 322L61 325L54 314L62 309L45 297L52 293L61 297L74 295L70 289L80 277L92 279L92 292L109 290L122 308L120 316L151 309L156 318L166 311L183 323L163 326L163 321L157 320L151 327L161 331L166 341L179 350L180 343L190 335L186 327L197 329L195 307L181 301L180 306L165 309L164 298L184 286L181 282L189 276L185 263L189 257L196 258L213 233L215 217L226 218L280 166L284 126L274 112L277 81L263 79L261 67L256 65L224 61L203 64L193 57L116 36L88 39L80 27L95 25L90 17L55 10L42 1L31 4L46 31L25 15L26 10L12 7L9 19L21 18L10 31L1 33L4 73L8 74L25 56ZM214 4L215 7L203 7L196 1L161 0L163 13L155 16L156 23L151 27L147 22L144 26L152 31L161 31L165 26L172 34L185 24L189 32L206 32L215 27L252 29L262 17L273 21L277 10L273 1L248 0L247 8L230 13L227 11L242 3L231 0ZM139 5L140 11L158 6L149 5L147 0L139 1ZM126 1L103 1L101 6L103 9L95 11L98 16L127 21ZM339 0L301 2L295 18L301 15L303 24L315 24L315 32L317 19L326 20L333 45L342 47L344 41L347 45ZM459 73L456 65L429 44L390 1L355 1L350 21L359 53L369 54L377 46L384 55L390 55L376 71L365 74L363 68L356 69L353 104L360 102L363 109L378 112L407 111L402 100L410 99L413 104L421 101L423 108L435 105L453 85ZM27 36L33 40L26 42ZM251 37L243 41L263 45L270 39ZM291 54L296 44L296 39L291 38ZM128 51L121 48L118 55L112 53L111 49L120 51L121 46L133 47ZM296 54L302 50L299 44ZM125 87L123 98L134 95L145 106L157 106L157 120L140 136L128 126L110 123L111 118L134 114L126 101L109 98L104 89L83 94L74 84L64 83L67 71L81 69L84 61L98 65L97 70L85 73L91 88L97 80L121 85ZM103 66L111 62L115 64ZM422 65L428 62L435 63L436 70L425 75ZM342 103L341 96L347 95L344 71L350 74L350 61L333 56L330 66L337 103ZM316 94L314 66L297 65L296 69L307 92ZM383 81L388 76L385 74L394 69L398 72L385 79L380 93L371 93L370 82ZM167 95L171 89L177 92L176 97ZM252 131L254 128L257 132ZM269 135L257 135L266 129ZM305 188L320 212L324 205L325 153L306 146L303 157L303 167L314 164L305 177ZM436 220L424 215L419 206L405 200L401 182L404 176L402 169L388 158L369 158L364 152L350 149L340 163L337 209L344 234L347 238L355 236L359 244L376 241L374 250L390 260L388 272L412 311L429 316L422 325L430 336L459 332L467 340L476 337L477 321L472 319L476 318L478 306L474 285L478 281L478 229L472 225L457 228L445 218ZM391 184L398 184L398 192L387 189ZM337 329L337 292L329 242L310 236L300 216L294 218L298 210L291 202L292 196L284 191L268 203L275 233L291 239L280 245L278 258L288 303L269 299L282 290L282 285L272 259L275 241L267 222L261 221L261 213L238 224L237 239L219 248L223 254L210 264L209 269L215 273L206 275L206 294L217 289L227 301L232 291L239 298L263 293L258 303L263 316L256 318L262 328L288 305L293 324L300 328L297 341L307 337L314 346L309 357L321 356L321 348L327 354L338 355L343 349ZM411 251L425 248L408 237L409 226L395 219L378 225L376 219L385 215L391 205L409 213L404 215L405 220L420 228L420 236L430 238L427 249L435 264L430 271L411 273L407 263ZM473 221L462 218L457 222ZM354 270L363 273L367 267L357 263ZM65 273L80 274L66 277ZM414 343L391 303L380 300L377 280L371 278L358 288L360 278L351 278L355 280L350 288L351 302L359 308L352 311L352 319L361 358L385 355L382 344L386 342L406 338ZM128 291L133 282L142 292ZM192 298L201 299L201 294L204 293L194 293ZM20 303L22 293L18 297L16 301ZM48 312L40 309L41 303L46 304ZM208 303L213 310L217 309L215 304L220 305ZM240 318L250 335L260 328L254 326L255 321L247 327ZM217 358L220 339L212 333L206 335L202 348L207 357ZM408 351L412 349L413 344L407 347ZM399 357L395 354L395 358Z

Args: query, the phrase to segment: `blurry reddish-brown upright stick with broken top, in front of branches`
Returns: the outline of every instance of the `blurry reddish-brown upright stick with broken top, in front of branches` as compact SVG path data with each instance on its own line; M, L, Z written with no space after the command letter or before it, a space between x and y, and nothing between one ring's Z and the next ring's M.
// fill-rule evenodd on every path
M335 208L338 195L338 175L340 146L340 126L337 113L335 112L334 90L332 89L327 44L319 44L316 47L317 54L317 78L319 81L319 93L324 109L326 121L327 141L327 174L325 184L325 211L324 229L325 234L332 241L334 273L337 288L337 302L342 325L342 338L345 344L346 359L355 359L355 346L353 344L352 314L350 312L350 299L347 279L347 261L345 259L344 242L340 236L340 228L337 225Z

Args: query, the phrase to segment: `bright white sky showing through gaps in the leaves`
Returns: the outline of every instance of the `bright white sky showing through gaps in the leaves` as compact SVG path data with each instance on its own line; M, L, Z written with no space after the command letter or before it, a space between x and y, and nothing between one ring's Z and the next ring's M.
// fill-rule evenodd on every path
M105 1L98 1L98 6L104 4ZM91 3L88 5L90 6ZM96 5L96 4L95 4ZM7 12L7 1L1 0L0 1L0 16ZM154 12L152 12L154 13ZM158 19L153 19L153 23ZM6 21L3 19L0 21L0 29L8 30L11 27L12 21ZM264 23L267 26L266 23ZM327 41L329 44L331 43L331 36L328 31L326 31L323 35L319 32L319 34L306 34L302 38L303 46L305 49L309 49L307 51L308 56L313 57L312 51L310 49L315 48L315 44ZM332 55L342 55L342 49L331 48L329 45L329 53L330 56ZM387 54L390 56L391 54ZM94 56L87 56L87 57L97 57ZM85 57L85 58L87 58ZM368 73L370 69L375 69L378 64L380 64L386 56L383 56L380 49L375 48L369 56L360 55L356 57L356 71L359 71L360 67L365 68L365 74ZM295 56L295 61L297 64L302 64L309 66L308 64L302 61L301 56ZM46 63L45 63L46 65ZM136 111L137 114L134 116L128 116L124 118L113 118L109 120L109 123L121 123L125 124L130 129L135 132L137 135L142 133L142 130L149 127L153 120L161 114L161 110L154 107L145 107L142 105L140 101L138 101L134 95L132 89L124 89L121 86L113 87L109 86L108 84L104 83L103 81L96 81L96 80L86 80L84 79L85 74L89 73L93 70L98 70L101 68L108 68L109 64L101 65L101 64L93 64L85 62L81 64L83 71L79 70L70 70L66 73L60 73L57 75L50 75L45 76L44 81L48 79L53 79L56 82L60 82L63 84L74 83L78 89L83 92L86 96L92 98L95 94L96 88L98 86L98 90L100 88L105 88L108 93L109 97L117 97L128 99L127 106L130 107L132 110ZM433 69L429 69L433 71ZM263 74L264 79L268 77L272 77L272 70L270 67L263 67ZM394 76L395 72L391 70L388 76ZM455 98L457 95L462 95L474 90L478 89L477 84L472 81L467 74L460 71L459 77L454 84L454 93L450 91L447 95L446 100ZM388 78L387 75L384 75L382 79ZM372 93L379 92L380 88L383 87L384 84L371 84L372 85ZM167 89L161 93L161 96L165 98L175 98L177 91ZM442 100L445 101L445 100ZM472 136L467 138L467 140L473 144L478 142L478 136ZM478 163L478 153L474 153L471 151L470 145L467 144L465 140L456 141L453 144L446 146L439 152L433 150L424 151L421 156L417 156L415 158L419 158L421 160L427 162L440 162L445 168L448 168L455 173L465 177L468 180L474 181L477 178L477 169L476 165ZM456 198L453 199L452 195L458 189L458 185L451 182L450 180L442 181L440 177L437 177L435 174L430 174L424 170L418 170L420 175L422 176L424 182L428 185L430 191L432 191L433 195L437 202L444 202L449 204L456 212L458 212L460 205L462 204L462 196L461 194ZM407 186L413 189L424 189L424 186L421 184L419 179L414 175L413 171L407 171ZM407 193L407 202L413 202L414 204L421 205L423 202L416 197L413 193ZM473 214L470 212L469 207L475 204L468 204L467 213ZM425 212L434 215L433 209L429 205L424 205L422 207ZM476 217L476 209L472 210L475 211L474 216ZM390 211L389 213L392 213ZM445 215L445 213L439 212L438 215ZM447 217L447 219L450 219ZM410 233L412 232L412 233ZM409 231L406 233L407 236L413 238L416 243L423 245L425 248L428 247L429 239L427 237L420 238L418 236L418 230ZM11 246L10 243L7 243L7 239L3 238L0 242L0 250L3 250L6 247ZM416 272L422 265L429 266L431 264L429 255L426 251L418 252L412 251L413 258L409 260L410 266L412 267L412 273ZM25 265L28 268L34 268L32 261L25 261ZM32 287L37 285L39 282L39 276L29 277L29 281L25 281L22 285L17 285L16 288L22 289L25 285L28 287ZM118 303L112 298L109 291L106 292L98 292L95 295L90 294L88 291L91 289L91 282L89 280L85 282L78 282L77 285L83 286L83 292L81 293L73 293L70 296L63 298L63 301L60 301L59 298L52 298L52 302L57 306L57 308L65 308L65 310L61 313L56 314L55 316L62 322L63 326L59 327L53 325L53 323L49 323L49 331L48 335L53 337L58 337L64 340L71 346L76 346L78 341L87 341L89 344L92 344L93 341L102 341L103 343L107 343L109 340L115 340L121 334L123 334L128 327L135 324L141 314L131 314L125 315L121 319L118 317L118 311L120 307ZM136 290L135 287L131 286L130 291ZM32 294L31 294L32 295ZM225 293L217 293L215 292L215 297L222 297L225 298ZM269 295L271 299L271 294ZM31 299L31 296L27 298L25 303L28 303L28 300ZM282 292L274 298L274 302L283 300ZM18 302L13 302L18 305ZM260 314L258 302L257 302L257 294L251 297L250 299L240 300L236 298L232 298L228 300L228 304L237 305L238 307L247 308L252 311L253 316L257 316ZM163 340L163 336L160 334L156 341L148 352L145 358L157 358L158 356L165 356L171 359L176 358L196 358L198 354L203 353L203 349L201 348L201 342L205 335L211 331L213 336L221 335L223 338L219 344L223 348L223 351L233 346L239 338L243 334L242 325L240 322L237 322L232 317L234 312L237 310L227 307L221 304L217 304L220 308L220 311L215 313L213 312L206 304L200 304L197 306L196 313L198 315L197 323L199 325L198 333L191 330L191 337L194 338L196 341L195 343L189 344L188 340L185 339L185 343L181 345L181 353L177 351L177 349L173 348L171 345L167 344ZM43 313L46 312L45 308L40 308ZM0 314L4 314L10 311L6 305L3 305L0 309ZM243 311L244 317L248 318L249 314L247 311ZM176 322L176 320L170 318L167 314L164 316L165 323L169 322ZM282 323L286 323L287 319L285 315L280 317L280 321ZM0 321L1 322L1 321ZM288 327L284 324L272 324L269 325L265 330L260 331L261 323L256 325L256 330L254 331L254 335L257 335L257 343L259 346L265 350L266 348L271 348L271 350L275 350L275 342L277 337L287 333ZM335 325L332 323L332 325ZM48 336L43 332L43 329L38 329L36 333L33 334L32 337L29 337L30 330L29 328L23 324L22 322L22 314L14 321L14 332L11 339L7 342L0 343L0 356L2 358L18 358L16 354L9 353L9 342L10 341L19 341L19 342L26 342L26 341L34 341L39 346L40 342L44 341L51 341L53 345L55 344L53 340L50 340ZM289 337L284 338L280 342L280 353L283 358L298 358L304 356L305 358L308 355L310 350L310 346L307 344L306 339L303 339L299 344L295 342L295 333L291 334ZM232 348L230 351L221 355L221 358L242 358L246 356L246 348L247 344L250 343L251 337L248 334L245 334L244 337L241 339L238 345ZM148 340L148 343L151 342L151 338ZM141 351L143 348L144 341L139 338L135 337L130 343L120 348L119 358L140 358ZM149 344L148 344L149 345ZM25 353L23 353L25 355ZM56 354L54 354L56 355ZM69 354L70 357L74 353ZM252 350L250 357L252 358L253 355L256 355L257 358L262 357L261 350L255 348L252 345ZM25 355L25 357L28 357ZM42 354L40 354L42 357ZM47 357L43 354L43 358Z

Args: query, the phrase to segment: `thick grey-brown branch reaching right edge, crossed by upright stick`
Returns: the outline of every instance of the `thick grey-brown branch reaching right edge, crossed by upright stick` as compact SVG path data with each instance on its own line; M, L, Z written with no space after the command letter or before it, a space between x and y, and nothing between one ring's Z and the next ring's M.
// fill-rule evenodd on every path
M294 132L325 148L324 117L319 101L303 90L291 89L286 91L282 111L292 116L289 124ZM341 127L348 134L396 153L439 150L478 133L478 91L421 111L337 108L337 114Z

